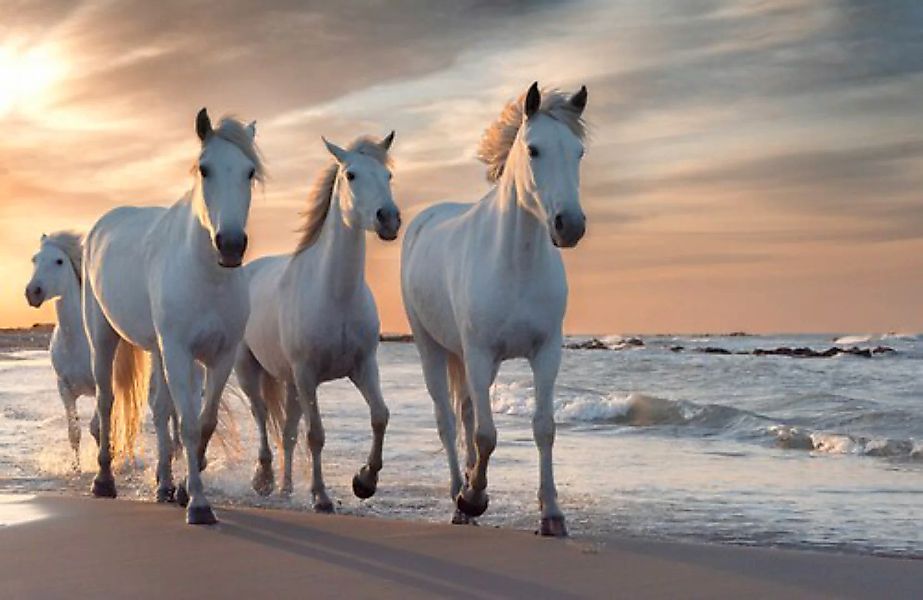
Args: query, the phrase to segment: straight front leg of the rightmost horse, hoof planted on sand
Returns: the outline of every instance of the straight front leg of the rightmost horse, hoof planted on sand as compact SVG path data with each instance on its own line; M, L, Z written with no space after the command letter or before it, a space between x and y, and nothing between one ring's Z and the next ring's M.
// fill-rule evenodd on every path
M529 364L535 383L535 414L532 416L532 433L538 447L539 487L538 504L542 511L542 535L563 537L567 535L564 513L558 506L558 490L554 485L554 468L551 450L554 446L554 382L561 364L561 340L555 338L533 356Z

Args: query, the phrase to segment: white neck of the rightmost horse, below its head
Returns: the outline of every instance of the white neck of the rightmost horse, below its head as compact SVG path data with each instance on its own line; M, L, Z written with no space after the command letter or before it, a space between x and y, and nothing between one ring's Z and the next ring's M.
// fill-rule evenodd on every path
M488 200L493 231L484 242L492 245L498 267L528 273L544 264L551 242L545 224L523 207L523 193L512 176L501 178Z

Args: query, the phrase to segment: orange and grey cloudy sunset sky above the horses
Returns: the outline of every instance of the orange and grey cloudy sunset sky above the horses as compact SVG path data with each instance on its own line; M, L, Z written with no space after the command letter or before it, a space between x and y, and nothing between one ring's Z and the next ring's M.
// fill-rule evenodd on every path
M0 4L0 326L42 233L191 186L207 106L257 121L248 259L294 248L320 136L397 131L404 222L481 198L483 130L531 84L589 89L562 254L571 333L923 330L923 3ZM383 329L399 242L370 237Z

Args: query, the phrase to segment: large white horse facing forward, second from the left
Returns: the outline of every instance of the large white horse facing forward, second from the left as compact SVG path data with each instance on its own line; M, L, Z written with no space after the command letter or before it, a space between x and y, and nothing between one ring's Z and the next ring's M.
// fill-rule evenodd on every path
M237 267L247 247L253 182L262 179L263 166L253 141L254 123L224 118L212 129L203 108L196 132L202 151L190 192L170 208L112 210L87 235L83 310L100 415L93 494L116 493L109 381L116 344L124 339L151 353L158 500L169 499L174 489L167 432L172 397L188 465L186 520L209 524L216 519L199 472L206 465L205 449L249 313L246 280ZM197 363L205 367L204 407Z

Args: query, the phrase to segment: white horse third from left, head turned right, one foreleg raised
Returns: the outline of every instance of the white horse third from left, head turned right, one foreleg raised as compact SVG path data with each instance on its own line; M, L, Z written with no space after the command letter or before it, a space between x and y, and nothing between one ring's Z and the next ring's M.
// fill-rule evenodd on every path
M353 478L356 496L375 493L382 467L388 408L378 379L378 311L365 282L365 232L393 240L400 228L388 169L393 140L394 132L381 142L360 138L348 149L324 140L335 161L314 185L295 253L266 257L244 269L252 310L235 372L260 429L253 487L263 495L272 491L267 412L276 425L284 412L282 493L291 493L292 453L298 422L306 415L318 512L333 511L321 471L319 384L349 377L369 405L372 449Z

